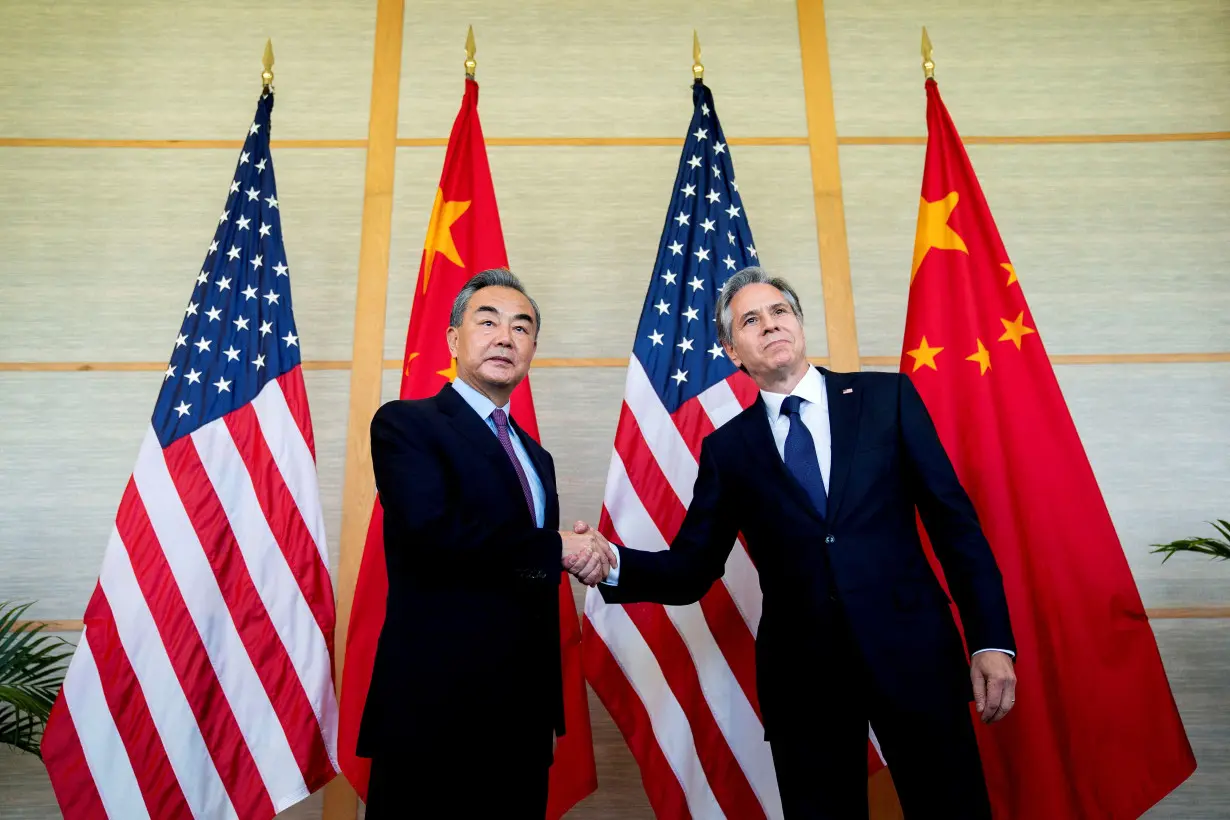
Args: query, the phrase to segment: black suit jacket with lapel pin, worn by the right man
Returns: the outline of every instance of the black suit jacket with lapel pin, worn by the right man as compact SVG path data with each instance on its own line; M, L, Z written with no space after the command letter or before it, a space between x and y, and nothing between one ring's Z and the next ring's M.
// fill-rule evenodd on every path
M742 531L764 599L756 682L766 733L815 691L815 675L840 674L828 663L839 611L888 697L970 697L968 659L915 508L970 650L1016 650L995 558L914 385L898 374L822 373L833 445L827 518L787 472L758 397L701 445L670 550L621 548L619 584L599 586L610 602L691 604L721 578Z

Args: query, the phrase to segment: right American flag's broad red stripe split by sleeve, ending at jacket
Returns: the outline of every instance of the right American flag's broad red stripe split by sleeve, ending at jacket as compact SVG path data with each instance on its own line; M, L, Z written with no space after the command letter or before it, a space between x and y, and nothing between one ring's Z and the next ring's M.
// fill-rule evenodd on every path
M700 407L700 402L692 401L689 403ZM704 413L704 411L701 412ZM675 534L679 532L688 510L670 488L665 475L662 472L658 461L653 457L653 452L641 434L636 417L632 416L627 404L624 404L620 424L615 432L615 450L624 461L632 489L636 491L641 503L645 504L646 513L653 519L662 537L669 543ZM616 543L619 542L616 541ZM629 546L632 548L637 547L635 543L630 543ZM734 548L742 550L743 546L739 545ZM759 718L760 700L756 697L755 637L748 628L747 621L743 620L739 607L734 605L731 590L721 580L710 588L708 593L701 599L700 605L708 629L713 633L713 641L717 642L718 648L726 656L726 663L731 666L736 681L738 681L739 687Z

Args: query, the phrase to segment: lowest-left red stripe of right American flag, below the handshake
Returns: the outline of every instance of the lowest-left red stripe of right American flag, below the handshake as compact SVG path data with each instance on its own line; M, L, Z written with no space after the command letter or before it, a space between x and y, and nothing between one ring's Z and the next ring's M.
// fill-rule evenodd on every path
M605 510L603 515L606 515ZM670 762L662 754L641 696L632 688L615 656L589 623L589 618L583 620L581 633L585 648L582 653L585 677L619 727L632 757L641 768L641 783L654 816L690 820L688 798L674 770L670 768Z

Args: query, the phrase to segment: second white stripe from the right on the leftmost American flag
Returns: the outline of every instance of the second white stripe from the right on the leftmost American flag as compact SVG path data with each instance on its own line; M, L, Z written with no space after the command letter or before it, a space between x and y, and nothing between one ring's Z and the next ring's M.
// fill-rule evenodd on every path
M277 386L277 382L269 384ZM316 720L326 733L333 734L337 703L330 685L328 647L290 564L269 529L244 456L225 424L205 424L192 434L192 440L226 513L257 595L261 596L299 682L311 701ZM290 787L303 789L306 784L300 777L298 784L290 783Z

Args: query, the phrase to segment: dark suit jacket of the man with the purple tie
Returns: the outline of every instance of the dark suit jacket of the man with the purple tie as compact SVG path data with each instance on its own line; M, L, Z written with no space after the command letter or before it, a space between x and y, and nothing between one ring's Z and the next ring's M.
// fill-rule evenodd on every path
M389 601L362 756L563 734L555 463L515 429L545 489L541 529L499 440L451 385L371 419Z

